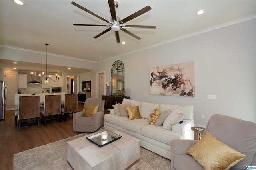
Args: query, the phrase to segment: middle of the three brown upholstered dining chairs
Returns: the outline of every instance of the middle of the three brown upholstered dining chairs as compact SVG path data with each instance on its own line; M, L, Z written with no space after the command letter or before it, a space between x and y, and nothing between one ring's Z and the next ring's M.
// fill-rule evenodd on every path
M45 96L44 111L41 114L44 126L46 126L46 120L58 119L58 115L60 115L61 119L61 95Z

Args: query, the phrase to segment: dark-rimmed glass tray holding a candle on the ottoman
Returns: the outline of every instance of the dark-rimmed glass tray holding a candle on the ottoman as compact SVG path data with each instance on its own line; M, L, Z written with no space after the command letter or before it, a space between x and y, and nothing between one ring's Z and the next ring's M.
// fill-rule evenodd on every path
M106 140L102 140L101 139L101 133L97 133L95 135L92 135L92 136L89 136L89 137L86 137L87 139L89 139L90 141L92 141L93 143L95 143L96 145L98 145L99 147L103 147L111 142L114 142L116 141L117 139L120 139L122 136L116 134L116 133L113 133L111 131L103 131L103 132L106 132L108 133L108 137Z

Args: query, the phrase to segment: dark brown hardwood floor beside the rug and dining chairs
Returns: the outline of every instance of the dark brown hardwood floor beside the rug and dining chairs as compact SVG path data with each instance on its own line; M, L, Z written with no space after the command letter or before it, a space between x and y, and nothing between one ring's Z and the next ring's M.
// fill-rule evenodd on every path
M78 111L82 111L84 104L78 103ZM41 119L41 117L40 117ZM80 134L73 131L73 119L61 123L50 120L44 123L31 124L19 131L14 122L14 111L6 111L5 119L0 121L0 170L13 170L13 154L39 147Z

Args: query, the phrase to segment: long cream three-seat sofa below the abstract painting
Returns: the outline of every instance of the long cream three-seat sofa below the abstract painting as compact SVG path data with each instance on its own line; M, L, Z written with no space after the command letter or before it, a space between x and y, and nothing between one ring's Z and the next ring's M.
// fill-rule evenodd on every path
M131 103L131 106L139 106L142 119L129 120L128 117L115 115L114 109L110 114L104 115L104 128L112 127L140 139L140 146L144 147L165 158L171 159L171 141L174 139L194 139L193 106L179 106L169 104L155 104L124 99L122 104ZM179 108L184 115L185 123L172 125L172 130L164 130L163 125L154 126L149 124L149 117L152 111L159 107L161 113L170 109Z

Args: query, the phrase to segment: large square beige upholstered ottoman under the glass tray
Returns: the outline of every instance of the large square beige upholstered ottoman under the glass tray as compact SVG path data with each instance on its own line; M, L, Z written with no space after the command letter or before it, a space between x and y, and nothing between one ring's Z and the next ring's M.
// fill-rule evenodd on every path
M67 143L67 160L74 170L124 170L139 161L140 140L112 128L107 130L122 137L103 147L86 139L91 135Z

